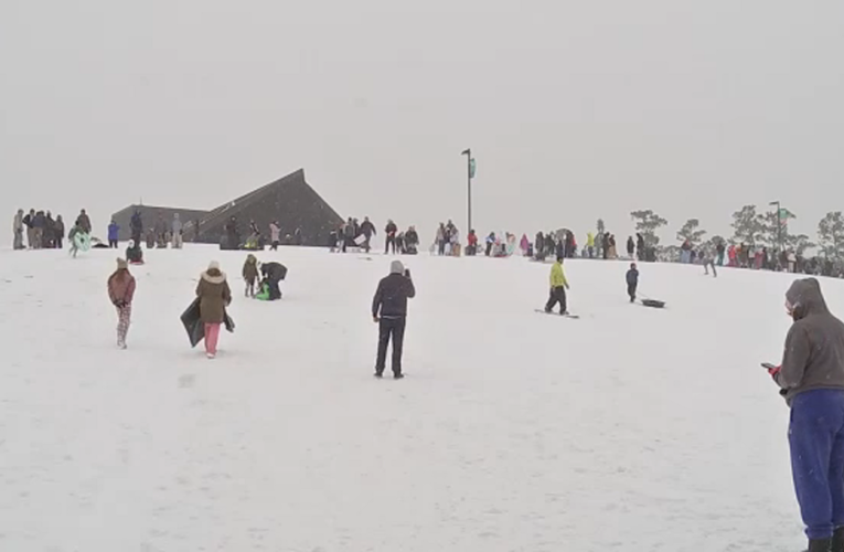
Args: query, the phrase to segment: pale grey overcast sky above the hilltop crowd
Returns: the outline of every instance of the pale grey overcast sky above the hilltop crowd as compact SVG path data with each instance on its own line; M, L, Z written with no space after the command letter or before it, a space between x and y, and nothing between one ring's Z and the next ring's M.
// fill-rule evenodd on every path
M305 168L342 215L466 230L471 147L479 232L781 200L814 235L842 53L840 0L2 0L0 212L104 227Z

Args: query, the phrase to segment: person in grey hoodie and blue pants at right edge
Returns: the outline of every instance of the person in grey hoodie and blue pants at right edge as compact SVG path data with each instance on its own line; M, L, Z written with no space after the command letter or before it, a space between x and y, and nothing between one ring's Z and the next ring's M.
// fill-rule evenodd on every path
M844 552L844 323L815 278L786 294L794 320L780 367L767 365L791 406L789 446L809 552Z

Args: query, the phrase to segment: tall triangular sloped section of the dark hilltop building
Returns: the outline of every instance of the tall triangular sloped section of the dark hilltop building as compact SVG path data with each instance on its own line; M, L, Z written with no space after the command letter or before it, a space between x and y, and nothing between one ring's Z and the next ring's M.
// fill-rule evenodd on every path
M225 226L236 217L241 235L245 238L250 221L255 221L266 237L269 223L278 221L281 237L301 229L305 243L325 245L329 234L343 223L343 219L305 181L305 170L288 174L257 190L228 201L207 213L200 222L199 238L204 243L220 243ZM185 229L194 240L195 229Z

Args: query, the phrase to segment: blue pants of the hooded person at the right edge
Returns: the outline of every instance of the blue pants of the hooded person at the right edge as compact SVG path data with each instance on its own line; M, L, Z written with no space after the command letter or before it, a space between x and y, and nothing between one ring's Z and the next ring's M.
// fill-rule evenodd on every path
M810 539L844 527L844 391L806 391L791 403L791 473Z

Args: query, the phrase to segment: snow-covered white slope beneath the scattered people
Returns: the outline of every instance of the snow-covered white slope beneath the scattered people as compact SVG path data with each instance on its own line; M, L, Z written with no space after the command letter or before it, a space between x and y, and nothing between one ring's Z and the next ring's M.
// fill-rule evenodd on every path
M534 312L549 265L405 258L407 379L373 379L388 262L148 252L129 350L114 252L0 252L0 550L11 552L766 551L804 544L779 361L787 275L567 264L579 320ZM221 354L179 315L211 259L236 291ZM844 283L822 283L834 311ZM238 294L239 293L239 294Z

